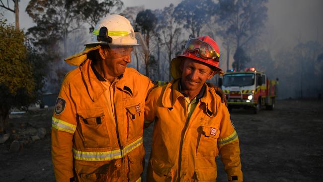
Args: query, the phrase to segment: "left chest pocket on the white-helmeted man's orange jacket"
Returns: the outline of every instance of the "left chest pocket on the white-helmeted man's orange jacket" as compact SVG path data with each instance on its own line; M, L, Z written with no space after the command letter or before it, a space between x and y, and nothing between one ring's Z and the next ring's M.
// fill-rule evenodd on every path
M102 108L78 112L84 148L106 148L110 145Z

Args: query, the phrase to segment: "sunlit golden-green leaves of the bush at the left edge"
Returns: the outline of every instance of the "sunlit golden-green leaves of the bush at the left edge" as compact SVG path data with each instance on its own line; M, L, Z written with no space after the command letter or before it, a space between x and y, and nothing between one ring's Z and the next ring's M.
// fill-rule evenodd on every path
M0 85L7 88L7 93L13 96L21 89L27 96L32 96L35 82L32 67L27 61L23 31L16 31L13 26L6 25L1 20L0 40Z

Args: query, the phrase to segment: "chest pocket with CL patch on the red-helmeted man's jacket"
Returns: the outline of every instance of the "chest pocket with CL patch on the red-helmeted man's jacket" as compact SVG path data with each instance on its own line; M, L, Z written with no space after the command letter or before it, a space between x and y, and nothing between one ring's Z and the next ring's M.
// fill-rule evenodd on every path
M218 155L217 141L220 135L219 128L201 125L198 128L199 141L196 156L215 157Z

